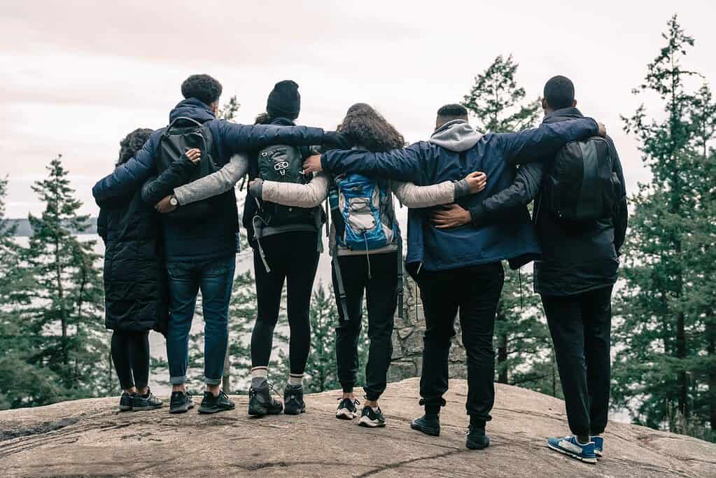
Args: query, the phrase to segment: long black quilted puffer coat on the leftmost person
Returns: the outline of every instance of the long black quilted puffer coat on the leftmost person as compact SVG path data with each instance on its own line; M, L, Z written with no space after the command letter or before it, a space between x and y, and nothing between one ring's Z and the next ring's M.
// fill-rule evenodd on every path
M97 233L105 241L105 326L166 333L169 294L158 213L137 190L100 203Z

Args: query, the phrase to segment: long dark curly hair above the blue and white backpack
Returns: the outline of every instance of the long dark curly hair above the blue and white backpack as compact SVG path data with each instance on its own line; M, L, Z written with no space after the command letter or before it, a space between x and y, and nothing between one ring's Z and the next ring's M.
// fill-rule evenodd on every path
M405 146L405 140L395 127L365 103L350 107L337 131L369 151L389 151Z

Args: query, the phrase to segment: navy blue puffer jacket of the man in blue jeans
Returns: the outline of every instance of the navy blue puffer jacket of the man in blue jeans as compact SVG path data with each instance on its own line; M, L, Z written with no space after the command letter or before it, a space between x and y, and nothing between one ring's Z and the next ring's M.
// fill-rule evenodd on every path
M226 164L236 152L261 149L269 145L320 145L324 131L320 128L269 125L237 125L216 119L211 109L198 99L185 99L172 110L170 122L180 116L190 117L208 125L213 136L212 152L219 166ZM165 128L157 130L125 164L102 178L92 195L97 203L112 200L138 189L150 176L158 172L155 166L160 136ZM238 214L233 191L211 199L213 214L202 220L172 220L163 218L164 252L167 260L205 260L226 257L238 248Z

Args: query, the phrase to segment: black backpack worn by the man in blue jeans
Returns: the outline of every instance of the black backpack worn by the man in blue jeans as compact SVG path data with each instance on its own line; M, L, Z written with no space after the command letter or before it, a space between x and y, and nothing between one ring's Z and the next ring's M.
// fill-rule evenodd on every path
M198 148L201 151L201 162L193 175L186 182L193 182L200 177L211 175L220 168L214 162L213 135L206 125L189 117L178 117L167 127L159 137L157 149L157 170L161 174L173 162L178 160L187 150ZM166 215L173 219L200 219L207 218L212 213L211 201L213 198L183 205Z

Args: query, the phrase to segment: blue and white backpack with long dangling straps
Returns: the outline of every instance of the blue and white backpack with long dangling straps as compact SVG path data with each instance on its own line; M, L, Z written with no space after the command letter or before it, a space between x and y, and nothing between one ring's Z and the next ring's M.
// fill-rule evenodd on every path
M345 291L338 263L338 248L365 251L370 274L372 250L397 245L398 313L402 318L402 239L395 220L390 181L359 174L340 175L329 190L328 203L336 231L334 271L344 317L348 318Z

